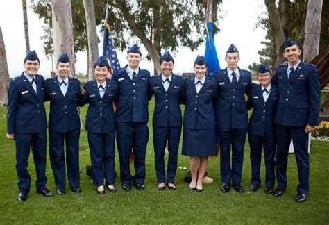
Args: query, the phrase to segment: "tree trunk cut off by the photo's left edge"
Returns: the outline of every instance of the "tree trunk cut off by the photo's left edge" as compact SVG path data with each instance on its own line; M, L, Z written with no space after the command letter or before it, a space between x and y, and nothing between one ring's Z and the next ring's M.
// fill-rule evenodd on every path
M1 106L7 106L9 72L6 57L5 43L3 42L2 29L0 26L0 100Z

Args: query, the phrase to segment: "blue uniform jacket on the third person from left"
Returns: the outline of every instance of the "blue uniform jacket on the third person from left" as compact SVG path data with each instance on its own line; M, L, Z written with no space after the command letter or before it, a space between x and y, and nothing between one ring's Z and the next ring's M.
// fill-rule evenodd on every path
M115 132L115 113L113 101L117 96L118 85L115 81L106 80L103 97L99 94L97 81L94 79L85 83L86 93L81 97L81 106L89 103L85 117L85 129L92 133Z

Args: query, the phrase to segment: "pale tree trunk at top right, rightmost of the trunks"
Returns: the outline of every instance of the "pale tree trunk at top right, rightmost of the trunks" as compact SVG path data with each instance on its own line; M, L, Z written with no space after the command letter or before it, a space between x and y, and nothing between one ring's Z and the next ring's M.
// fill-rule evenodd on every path
M322 0L309 0L305 21L305 41L303 47L303 60L305 63L319 54L321 33Z

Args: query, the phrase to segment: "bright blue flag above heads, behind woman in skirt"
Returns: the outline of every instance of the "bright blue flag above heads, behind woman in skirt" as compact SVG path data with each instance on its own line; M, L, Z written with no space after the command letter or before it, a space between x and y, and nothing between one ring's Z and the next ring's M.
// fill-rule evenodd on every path
M214 47L214 39L212 38L212 19L207 23L207 35L205 38L205 62L207 63L208 76L212 77L214 72L221 69L217 57L216 47Z

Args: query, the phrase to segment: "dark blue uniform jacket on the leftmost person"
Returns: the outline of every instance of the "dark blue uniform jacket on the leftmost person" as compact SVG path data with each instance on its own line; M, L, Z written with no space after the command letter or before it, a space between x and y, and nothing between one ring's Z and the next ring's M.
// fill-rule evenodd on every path
M35 74L37 93L24 73L12 78L8 88L7 133L40 133L47 129L44 78Z

